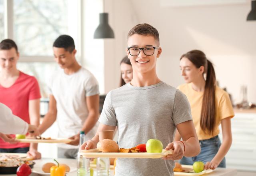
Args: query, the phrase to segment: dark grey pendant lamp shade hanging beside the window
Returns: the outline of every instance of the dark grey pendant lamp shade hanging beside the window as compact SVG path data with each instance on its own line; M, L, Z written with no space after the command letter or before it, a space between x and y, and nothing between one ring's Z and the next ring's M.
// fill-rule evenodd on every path
M96 28L93 38L114 38L114 32L108 25L108 13L100 13L100 24Z

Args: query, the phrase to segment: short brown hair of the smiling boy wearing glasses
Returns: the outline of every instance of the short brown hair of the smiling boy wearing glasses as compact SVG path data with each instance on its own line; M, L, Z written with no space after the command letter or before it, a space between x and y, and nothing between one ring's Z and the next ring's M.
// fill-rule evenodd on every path
M137 24L128 32L127 38L129 38L130 36L132 36L134 34L139 34L139 35L143 35L143 36L153 36L159 45L159 42L160 42L159 33L156 30L156 28L154 28L150 24L147 24L147 23Z

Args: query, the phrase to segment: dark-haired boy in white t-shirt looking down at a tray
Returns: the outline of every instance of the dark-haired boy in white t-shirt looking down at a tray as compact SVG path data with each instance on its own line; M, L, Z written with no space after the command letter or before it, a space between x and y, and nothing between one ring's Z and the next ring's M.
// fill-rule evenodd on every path
M68 144L58 144L58 158L76 158L80 131L84 131L86 139L90 139L97 130L98 82L76 61L72 37L59 36L53 44L53 52L61 69L51 77L49 110L39 131L43 133L57 119L58 137L72 139Z

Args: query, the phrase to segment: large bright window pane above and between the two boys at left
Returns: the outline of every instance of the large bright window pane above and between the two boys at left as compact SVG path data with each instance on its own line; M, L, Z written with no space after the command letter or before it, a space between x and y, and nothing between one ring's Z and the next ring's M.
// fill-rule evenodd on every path
M68 34L67 0L14 0L14 41L22 56L52 56L52 43Z

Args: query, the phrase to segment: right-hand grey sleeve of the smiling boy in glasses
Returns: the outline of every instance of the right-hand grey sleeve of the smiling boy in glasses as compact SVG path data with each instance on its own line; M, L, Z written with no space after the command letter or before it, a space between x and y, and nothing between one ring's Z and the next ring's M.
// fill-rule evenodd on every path
M175 125L192 120L190 104L180 90L177 90L175 94L172 120Z

